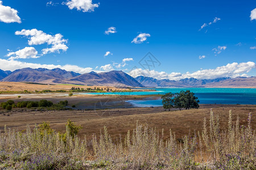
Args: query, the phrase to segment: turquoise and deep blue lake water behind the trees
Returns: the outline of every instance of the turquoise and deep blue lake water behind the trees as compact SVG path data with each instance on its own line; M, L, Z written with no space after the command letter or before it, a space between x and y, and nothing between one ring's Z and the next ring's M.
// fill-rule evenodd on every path
M104 95L163 95L168 92L190 90L200 100L200 104L256 104L256 88L147 88L156 91L106 92ZM84 93L102 95L102 93ZM162 106L162 100L127 100L135 107Z

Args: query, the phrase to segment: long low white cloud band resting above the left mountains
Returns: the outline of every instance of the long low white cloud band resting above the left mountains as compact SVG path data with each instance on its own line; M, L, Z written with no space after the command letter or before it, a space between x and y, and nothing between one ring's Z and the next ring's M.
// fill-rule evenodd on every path
M16 69L23 69L30 67L32 69L38 69L38 68L46 68L46 69L56 69L60 68L67 71L74 71L76 73L84 74L89 73L90 71L93 71L90 67L79 67L76 65L44 65L40 63L28 63L28 62L21 62L16 60L7 60L7 59L1 59L0 58L0 69L2 70L11 70L14 71Z

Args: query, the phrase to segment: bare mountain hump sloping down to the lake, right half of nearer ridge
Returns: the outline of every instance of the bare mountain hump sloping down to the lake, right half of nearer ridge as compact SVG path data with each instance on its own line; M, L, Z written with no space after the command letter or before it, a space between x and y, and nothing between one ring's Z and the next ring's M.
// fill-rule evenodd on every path
M123 71L110 71L98 74L92 71L90 73L76 76L75 78L60 80L56 83L143 87L141 83L135 80L132 76L123 73Z

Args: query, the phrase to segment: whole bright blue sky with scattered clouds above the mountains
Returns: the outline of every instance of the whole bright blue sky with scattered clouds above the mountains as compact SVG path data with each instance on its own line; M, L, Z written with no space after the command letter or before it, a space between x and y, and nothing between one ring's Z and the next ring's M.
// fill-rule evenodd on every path
M256 75L256 1L2 0L0 21L2 70ZM148 52L159 61L150 70L140 64Z

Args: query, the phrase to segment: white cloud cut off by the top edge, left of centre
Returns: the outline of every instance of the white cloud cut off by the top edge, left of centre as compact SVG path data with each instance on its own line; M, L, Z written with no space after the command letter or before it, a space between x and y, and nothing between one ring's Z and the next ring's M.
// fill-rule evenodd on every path
M82 12L92 12L94 8L100 5L100 3L92 3L92 0L68 0L66 3L64 2L64 4L71 10L77 8L77 11Z

